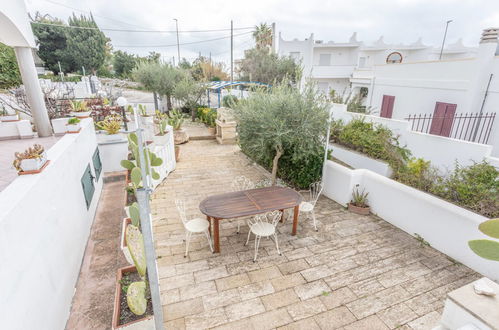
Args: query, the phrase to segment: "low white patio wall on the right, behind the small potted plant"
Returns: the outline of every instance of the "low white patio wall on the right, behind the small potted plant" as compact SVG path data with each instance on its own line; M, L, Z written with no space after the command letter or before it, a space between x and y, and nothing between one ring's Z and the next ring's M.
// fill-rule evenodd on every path
M472 239L487 238L478 225L487 218L369 170L351 170L327 161L324 195L341 205L355 185L369 192L371 211L403 231L423 237L435 249L475 271L499 280L499 263L480 258L468 247Z

